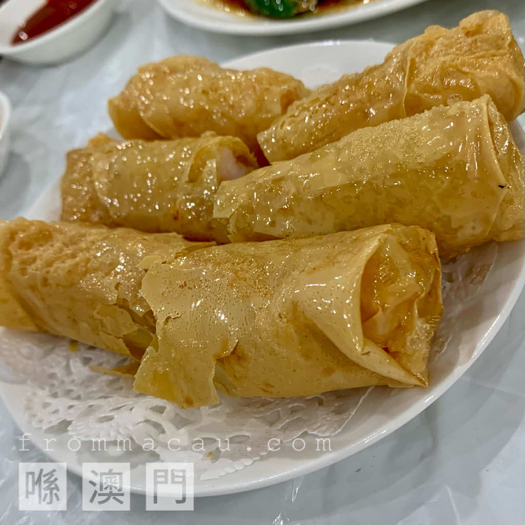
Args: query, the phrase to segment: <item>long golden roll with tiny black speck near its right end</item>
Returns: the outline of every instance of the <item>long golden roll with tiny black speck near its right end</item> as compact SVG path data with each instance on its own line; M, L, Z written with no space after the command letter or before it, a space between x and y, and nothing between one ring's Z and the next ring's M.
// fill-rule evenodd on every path
M363 128L224 182L214 216L232 240L416 224L454 256L523 237L523 155L488 96Z

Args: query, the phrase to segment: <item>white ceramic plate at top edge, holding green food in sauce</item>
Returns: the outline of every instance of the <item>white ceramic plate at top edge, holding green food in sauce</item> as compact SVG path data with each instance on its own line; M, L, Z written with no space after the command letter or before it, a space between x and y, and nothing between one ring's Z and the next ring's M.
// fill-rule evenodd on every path
M259 16L238 16L207 5L202 0L159 0L171 16L184 24L232 35L286 35L306 33L332 27L356 24L383 16L426 0L372 0L361 5L327 9L319 15L299 16L289 20L274 20Z

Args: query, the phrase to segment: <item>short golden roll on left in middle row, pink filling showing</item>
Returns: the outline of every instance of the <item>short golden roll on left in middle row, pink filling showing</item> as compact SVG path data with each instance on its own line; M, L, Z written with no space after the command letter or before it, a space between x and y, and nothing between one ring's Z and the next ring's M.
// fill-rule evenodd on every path
M98 135L68 153L61 219L225 241L224 227L212 220L215 192L256 167L234 137L119 142Z

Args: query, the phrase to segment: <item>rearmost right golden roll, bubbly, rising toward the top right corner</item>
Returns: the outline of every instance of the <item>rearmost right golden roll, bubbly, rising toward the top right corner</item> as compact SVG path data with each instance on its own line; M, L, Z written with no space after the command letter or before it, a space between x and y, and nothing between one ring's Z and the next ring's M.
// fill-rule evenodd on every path
M293 159L356 129L486 93L508 121L523 111L523 55L508 17L494 10L453 29L431 26L383 64L320 87L261 132L259 144L270 162Z

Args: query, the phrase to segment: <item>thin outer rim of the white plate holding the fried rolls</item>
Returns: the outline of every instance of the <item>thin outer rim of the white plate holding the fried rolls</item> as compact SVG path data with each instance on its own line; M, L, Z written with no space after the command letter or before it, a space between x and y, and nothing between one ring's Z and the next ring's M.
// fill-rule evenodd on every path
M301 48L304 49L305 47L327 47L327 46L355 46L355 45L366 45L366 46L381 46L382 48L390 48L392 44L387 44L383 42L377 42L374 40L324 40L324 41L318 41L318 42L311 42L306 44L293 44L289 46L282 46L277 48L271 48L265 51L257 51L256 53L244 55L241 57L238 57L233 60L229 60L227 62L224 62L222 66L224 67L243 67L241 63L245 60L257 60L264 56L267 56L271 53L280 53L282 50L292 50L294 48ZM523 127L521 126L522 132ZM43 193L39 196L38 199L36 199L33 206L31 206L26 212L26 216L35 215L34 210L39 209L41 206L46 203L46 201L49 201L51 195L55 194L57 191L57 188L59 187L59 178L52 182L50 185L48 185ZM521 245L525 245L525 241L515 241L516 243L520 243ZM338 448L337 450L330 451L328 453L324 453L320 455L317 458L312 458L308 460L303 460L302 464L297 467L288 468L285 471L280 472L279 474L275 475L268 475L265 477L259 477L254 479L250 479L248 481L243 482L230 482L228 483L221 483L220 480L227 479L226 477L218 478L217 480L211 479L206 480L205 485L199 489L196 488L195 490L195 497L209 497L209 496L222 496L222 495L229 495L239 492L246 492L250 490L255 490L258 488L264 488L271 485L275 485L281 482L289 481L291 479L294 479L298 476L303 476L306 474L310 474L311 472L317 471L321 468L328 467L330 465L333 465L334 463L337 463L338 461L345 459L347 457L352 456L353 454L358 453L359 451L367 448L368 446L379 442L382 438L392 434L395 430L398 428L401 428L403 425L411 421L415 416L418 414L421 414L425 409L427 409L432 403L434 403L440 396L442 396L456 381L460 379L461 376L474 364L479 356L484 352L484 350L487 348L489 343L492 341L492 339L496 336L498 331L500 330L501 326L505 321L507 320L512 308L514 307L514 304L516 304L519 296L521 295L521 292L523 288L525 287L525 257L522 259L522 265L520 272L517 276L516 281L514 282L514 285L511 289L511 292L509 293L508 297L506 298L502 308L499 311L498 316L495 318L495 320L492 322L490 327L487 329L484 337L480 339L478 344L476 345L476 348L474 352L472 353L471 358L469 361L463 365L457 365L452 373L447 375L445 379L440 382L435 388L436 390L432 392L432 395L427 396L424 400L420 400L416 403L413 403L411 406L404 409L403 412L395 416L394 418L390 419L387 424L383 424L380 427L377 427L373 432L368 434L367 436L362 437L359 440L356 440L348 445L342 446L341 448ZM31 428L31 431L33 433L33 436L40 434L44 434L44 431L41 429L37 429L29 424L25 420L23 412L20 412L18 410L13 411L11 407L15 405L15 401L13 401L6 392L6 386L9 386L9 383L4 383L0 381L0 397L5 403L5 406L10 413L11 417L14 419L17 426L20 428L20 430L24 431L24 428ZM43 442L41 442L43 443ZM45 451L40 444L33 439L33 444L38 447L40 450L42 450L46 455L48 455L51 459L59 461L63 460L63 458L59 458L55 452ZM264 460L264 458L263 458ZM79 468L80 467L80 468ZM68 463L68 470L70 472L73 472L74 474L81 476L81 464L71 464ZM218 485L215 486L214 482L218 481ZM144 494L144 490L141 487L133 486L133 482L130 486L131 491L138 493L138 494Z

